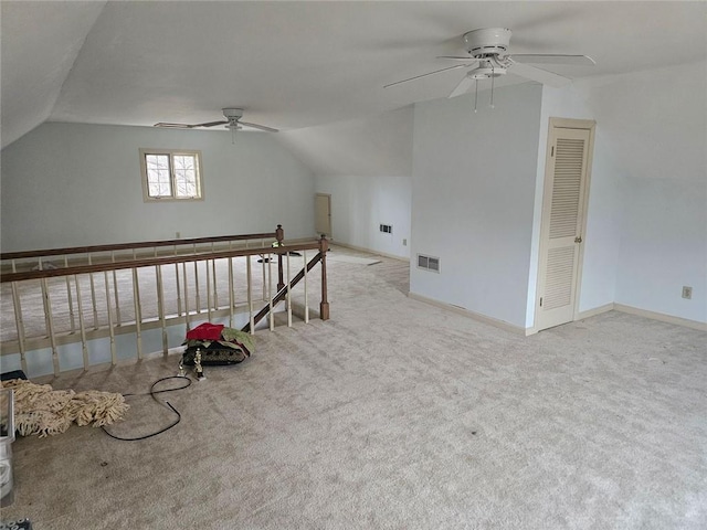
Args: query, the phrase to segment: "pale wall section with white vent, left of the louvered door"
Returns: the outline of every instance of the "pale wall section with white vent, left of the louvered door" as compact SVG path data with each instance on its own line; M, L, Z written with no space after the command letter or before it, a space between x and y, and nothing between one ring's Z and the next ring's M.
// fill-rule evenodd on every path
M410 290L525 329L542 88L415 105ZM440 274L416 254L440 257Z

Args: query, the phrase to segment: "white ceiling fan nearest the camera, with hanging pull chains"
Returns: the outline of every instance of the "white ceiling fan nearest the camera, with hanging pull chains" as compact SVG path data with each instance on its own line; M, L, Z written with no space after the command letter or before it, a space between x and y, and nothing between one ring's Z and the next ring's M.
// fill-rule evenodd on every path
M581 66L591 66L597 64L593 59L587 55L557 55L557 54L508 54L508 45L510 43L511 31L506 28L484 28L464 33L464 49L468 55L451 56L443 55L437 59L460 61L463 64L447 66L446 68L435 70L426 74L415 75L395 83L384 86L399 85L410 81L416 81L429 75L441 74L456 68L472 68L462 81L452 91L449 97L455 97L466 93L474 83L478 91L478 81L492 81L492 106L493 106L493 82L495 77L505 75L511 71L514 74L527 80L537 81L544 85L561 87L570 83L572 80L562 75L549 72L547 70L531 66L532 64L571 64ZM476 109L476 108L474 108Z

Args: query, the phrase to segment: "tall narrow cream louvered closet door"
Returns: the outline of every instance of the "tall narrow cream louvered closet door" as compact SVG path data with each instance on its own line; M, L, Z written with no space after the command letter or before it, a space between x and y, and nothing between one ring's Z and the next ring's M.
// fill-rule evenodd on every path
M546 178L536 328L572 321L582 244L589 129L553 127Z

